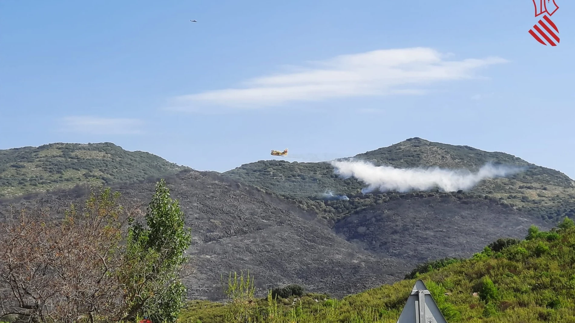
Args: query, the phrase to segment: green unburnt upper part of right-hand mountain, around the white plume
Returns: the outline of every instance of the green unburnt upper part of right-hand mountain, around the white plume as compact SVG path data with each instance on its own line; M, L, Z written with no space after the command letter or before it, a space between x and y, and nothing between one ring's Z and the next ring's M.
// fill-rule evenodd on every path
M459 196L494 200L544 220L556 221L564 216L575 216L575 182L572 179L557 170L530 164L513 155L411 138L358 154L355 158L396 168L439 166L475 171L488 162L523 166L526 168L524 172L507 178L484 180L469 192L459 192ZM355 178L338 177L333 166L327 162L258 161L241 165L223 175L296 200L302 207L331 219L339 219L357 209L388 199L430 193L362 194L361 189L365 186L362 182ZM333 199L326 193L346 195L348 199ZM431 194L446 196L450 193L435 190Z

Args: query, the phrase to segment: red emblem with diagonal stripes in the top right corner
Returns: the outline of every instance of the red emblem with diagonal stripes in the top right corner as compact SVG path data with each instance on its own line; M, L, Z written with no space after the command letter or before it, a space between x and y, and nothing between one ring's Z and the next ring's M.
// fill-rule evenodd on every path
M559 29L551 21L547 15L551 16L559 9L555 0L532 0L535 6L535 17L543 14L543 19L538 21L538 24L533 25L533 28L529 30L529 33L536 41L543 45L549 44L551 46L557 46L559 44ZM552 29L553 28L553 29ZM551 39L553 38L553 39Z

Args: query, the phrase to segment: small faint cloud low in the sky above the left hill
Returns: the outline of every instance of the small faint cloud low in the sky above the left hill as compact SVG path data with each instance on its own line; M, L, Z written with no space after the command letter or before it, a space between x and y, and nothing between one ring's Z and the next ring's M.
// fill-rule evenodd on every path
M67 116L63 131L88 134L141 134L139 119L99 118L97 116Z

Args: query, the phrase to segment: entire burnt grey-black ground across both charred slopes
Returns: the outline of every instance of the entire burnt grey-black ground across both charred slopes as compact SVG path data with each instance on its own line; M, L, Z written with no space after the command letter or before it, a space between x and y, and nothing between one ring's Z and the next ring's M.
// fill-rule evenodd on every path
M546 225L494 201L438 195L390 199L332 229L313 212L217 173L183 170L166 180L193 230L197 275L187 285L194 298L220 298L220 274L239 270L256 274L259 287L300 283L341 297L397 281L423 260L469 256L501 236L522 237L530 224ZM153 181L112 187L142 211L154 192ZM76 186L0 201L0 221L21 208L62 216L87 193Z

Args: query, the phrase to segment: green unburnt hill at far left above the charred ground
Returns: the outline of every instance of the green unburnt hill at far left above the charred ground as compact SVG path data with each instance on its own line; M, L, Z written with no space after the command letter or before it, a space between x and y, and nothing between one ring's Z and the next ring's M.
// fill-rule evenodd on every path
M139 181L182 168L156 155L127 151L110 142L6 149L0 150L0 197L85 182Z

